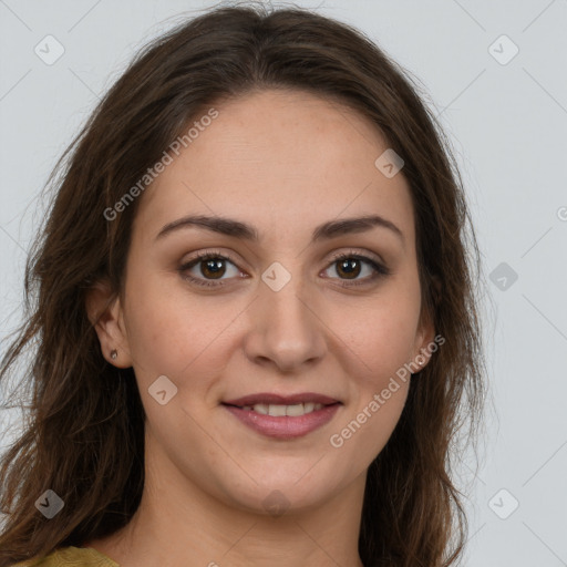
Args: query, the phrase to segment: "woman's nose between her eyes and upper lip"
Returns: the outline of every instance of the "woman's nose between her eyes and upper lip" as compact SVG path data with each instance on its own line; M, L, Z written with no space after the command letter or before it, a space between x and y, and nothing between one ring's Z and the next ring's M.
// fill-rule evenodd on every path
M321 360L327 329L315 295L307 292L300 277L292 277L281 289L261 281L258 293L247 310L244 349L248 359L284 373L297 373Z

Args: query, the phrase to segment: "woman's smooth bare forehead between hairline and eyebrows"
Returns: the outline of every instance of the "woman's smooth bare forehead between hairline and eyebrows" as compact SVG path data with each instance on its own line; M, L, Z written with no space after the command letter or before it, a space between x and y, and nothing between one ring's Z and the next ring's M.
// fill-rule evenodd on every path
M214 109L218 116L145 190L138 231L155 236L178 217L203 214L248 221L267 239L379 214L413 241L408 183L374 165L388 144L368 118L301 91L255 92Z

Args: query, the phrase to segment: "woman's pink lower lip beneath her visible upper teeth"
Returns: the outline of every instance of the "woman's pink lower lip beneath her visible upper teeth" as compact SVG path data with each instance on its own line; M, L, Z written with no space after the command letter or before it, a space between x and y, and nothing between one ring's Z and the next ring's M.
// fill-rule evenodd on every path
M337 411L340 403L326 405L321 410L306 413L305 415L264 415L254 410L243 410L235 405L223 404L235 417L238 417L245 425L266 435L276 439L296 439L307 435L311 431L322 427L329 423Z

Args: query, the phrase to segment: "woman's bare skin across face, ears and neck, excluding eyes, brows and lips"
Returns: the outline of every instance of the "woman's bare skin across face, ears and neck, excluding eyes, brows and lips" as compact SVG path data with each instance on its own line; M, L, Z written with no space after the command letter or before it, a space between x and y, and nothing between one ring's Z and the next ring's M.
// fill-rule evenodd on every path
M123 567L361 566L367 468L400 419L410 381L399 381L341 447L329 440L404 363L420 353L422 367L429 361L421 349L434 330L420 320L409 186L375 167L388 145L373 125L336 102L268 90L215 107L219 116L140 197L125 300L96 326L109 362L135 370L147 415L146 483L132 522L85 547ZM260 239L187 227L155 240L189 214L236 218ZM374 227L310 244L316 226L369 214L394 223L403 241ZM179 272L209 250L235 259L225 261L220 288ZM351 251L391 274L371 280L362 262L349 279L332 255ZM291 277L279 291L261 279L274 261ZM205 262L184 274L219 281ZM93 321L107 293L103 285L92 293ZM165 405L148 393L159 375L178 389ZM257 392L317 392L342 405L324 426L274 440L220 405ZM280 516L264 504L275 489L286 498Z

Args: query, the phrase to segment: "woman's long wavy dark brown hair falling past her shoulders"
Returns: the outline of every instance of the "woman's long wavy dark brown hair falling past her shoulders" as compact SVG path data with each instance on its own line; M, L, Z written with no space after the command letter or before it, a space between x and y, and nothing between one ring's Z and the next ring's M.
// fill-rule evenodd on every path
M140 504L144 410L133 369L103 358L85 297L99 280L123 292L141 197L112 220L103 212L203 109L258 89L346 104L403 156L423 306L445 343L412 379L368 471L359 551L368 567L442 567L462 555L467 520L450 457L464 450L463 424L476 449L486 386L480 252L451 144L410 73L360 31L299 8L240 6L199 14L138 53L48 181L50 212L25 267L27 319L0 368L6 380L30 351L25 425L0 462L0 567L114 533ZM64 502L51 519L34 505L48 488Z

